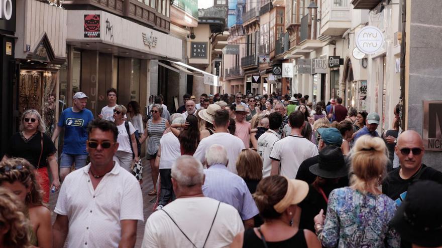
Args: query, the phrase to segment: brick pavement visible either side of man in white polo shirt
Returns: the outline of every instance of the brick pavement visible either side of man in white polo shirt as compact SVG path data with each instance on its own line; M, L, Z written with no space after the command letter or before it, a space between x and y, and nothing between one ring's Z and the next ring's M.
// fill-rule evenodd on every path
M148 195L147 193L153 189L152 178L150 175L150 166L149 161L143 159L143 183L142 189L143 192L143 212L144 212L144 220L149 217L149 215L153 212L152 208L154 207L156 196ZM51 193L49 198L49 207L52 211L52 222L55 221L56 213L54 212L55 204L57 203L58 191L55 193ZM135 244L136 248L141 247L141 242L143 241L144 235L144 226L145 222L138 221L137 227L137 242Z

